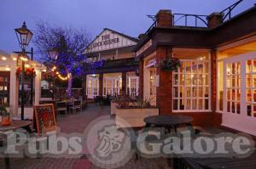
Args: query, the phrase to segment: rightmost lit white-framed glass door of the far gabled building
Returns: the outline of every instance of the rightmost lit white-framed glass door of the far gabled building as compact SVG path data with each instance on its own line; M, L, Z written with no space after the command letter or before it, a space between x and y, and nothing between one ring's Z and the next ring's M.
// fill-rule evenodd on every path
M139 83L138 76L127 77L126 93L129 94L131 97L136 97L138 95L138 83Z

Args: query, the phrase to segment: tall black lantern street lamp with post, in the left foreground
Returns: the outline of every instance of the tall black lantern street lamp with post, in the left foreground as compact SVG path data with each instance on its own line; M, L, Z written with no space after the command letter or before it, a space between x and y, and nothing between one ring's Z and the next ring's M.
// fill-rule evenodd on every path
M17 39L20 43L20 48L22 53L20 56L21 59L21 120L24 120L24 104L25 104L25 92L24 92L24 71L25 71L25 61L28 59L26 56L26 47L32 39L32 31L26 28L26 22L23 22L23 25L20 28L15 29Z

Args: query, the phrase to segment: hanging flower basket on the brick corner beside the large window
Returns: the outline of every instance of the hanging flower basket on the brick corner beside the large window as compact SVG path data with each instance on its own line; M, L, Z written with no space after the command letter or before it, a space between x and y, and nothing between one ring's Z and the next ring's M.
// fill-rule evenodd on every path
M166 71L175 71L181 65L181 62L177 58L168 58L161 61L161 69Z

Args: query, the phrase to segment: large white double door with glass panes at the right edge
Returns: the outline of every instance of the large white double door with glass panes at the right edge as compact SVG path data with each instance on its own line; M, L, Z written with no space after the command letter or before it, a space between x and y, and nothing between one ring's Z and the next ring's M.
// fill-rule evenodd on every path
M224 60L223 125L256 135L256 53Z

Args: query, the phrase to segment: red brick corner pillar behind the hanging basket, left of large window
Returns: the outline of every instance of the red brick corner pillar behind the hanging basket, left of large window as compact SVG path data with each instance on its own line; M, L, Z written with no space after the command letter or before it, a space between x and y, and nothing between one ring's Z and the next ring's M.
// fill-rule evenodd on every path
M156 62L160 65L166 55L172 57L172 48L157 48ZM156 104L160 108L160 115L168 115L172 113L172 71L162 70L159 66L156 74L160 80L159 87L156 88Z

